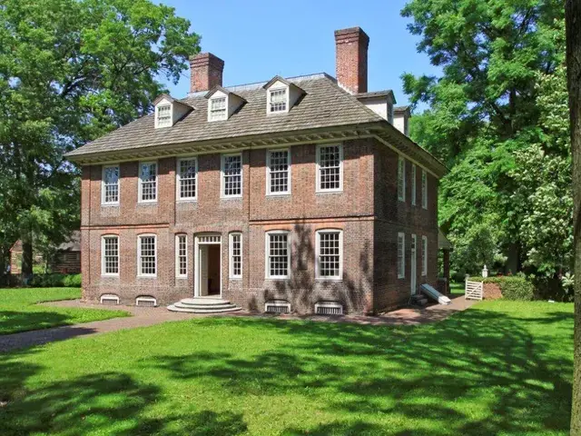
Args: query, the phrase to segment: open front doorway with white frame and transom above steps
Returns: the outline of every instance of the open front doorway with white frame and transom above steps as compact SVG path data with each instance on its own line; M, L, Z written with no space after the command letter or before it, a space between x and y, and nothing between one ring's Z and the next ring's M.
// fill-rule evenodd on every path
M220 235L196 236L194 291L196 297L222 295L222 238Z

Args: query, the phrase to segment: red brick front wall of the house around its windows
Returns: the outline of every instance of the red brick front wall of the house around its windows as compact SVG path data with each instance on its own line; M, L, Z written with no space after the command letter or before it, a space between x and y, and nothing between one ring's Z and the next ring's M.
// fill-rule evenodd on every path
M392 177L390 154L380 151L383 149L384 145L371 139L346 142L343 192L315 193L316 145L293 146L291 195L282 197L265 195L266 150L242 152L243 194L235 199L220 197L220 154L198 156L198 199L195 202L175 201L175 158L158 161L158 202L153 204L137 202L138 163L121 164L119 206L101 206L102 167L85 167L82 183L84 298L98 300L103 293L115 293L123 303L133 304L139 295L153 295L159 303L169 304L192 296L194 235L212 232L222 235L222 297L245 308L262 311L265 300L271 298L289 300L293 310L299 312L312 312L314 303L320 300L344 302L348 312L370 312L385 307L393 300L389 292L404 285L394 284L389 278L378 279L380 273L395 269L395 261L389 258L393 247L384 244L376 248L378 243L383 243L382 238L386 236L397 234L404 223L411 228L424 223L422 220L435 221L428 218L425 211L419 211L422 217L407 223L414 211L407 211L405 207L408 206L404 205L398 210L399 204L390 199L390 190L395 193L393 183L396 179L393 175L393 182L383 180ZM430 194L430 198L435 197ZM374 221L375 209L378 221ZM416 209L421 209L420 204ZM395 218L389 218L389 213ZM341 282L315 280L315 232L322 228L343 230L344 275ZM264 244L268 230L291 231L292 273L288 281L265 279ZM437 238L436 228L432 230ZM236 280L228 277L228 235L231 232L242 233L242 278ZM155 279L137 277L137 236L142 233L157 235ZM189 271L185 279L175 277L176 233L188 236ZM121 272L118 278L101 276L101 238L104 234L120 236ZM418 231L418 234L420 240L422 233ZM435 259L434 265L437 264ZM377 277L374 278L374 274Z

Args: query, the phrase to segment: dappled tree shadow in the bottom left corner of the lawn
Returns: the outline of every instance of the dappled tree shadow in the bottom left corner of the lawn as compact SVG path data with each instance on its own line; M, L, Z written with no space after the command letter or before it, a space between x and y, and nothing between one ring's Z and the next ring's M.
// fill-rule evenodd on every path
M247 430L240 413L202 410L162 418L143 415L162 401L160 388L120 372L87 374L28 390L39 365L15 362L34 349L0 355L0 434L3 436L98 432L115 435L236 435Z

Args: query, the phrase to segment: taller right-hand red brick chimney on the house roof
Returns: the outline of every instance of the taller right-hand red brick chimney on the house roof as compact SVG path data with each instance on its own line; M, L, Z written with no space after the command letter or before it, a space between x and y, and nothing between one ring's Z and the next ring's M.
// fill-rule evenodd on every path
M351 94L367 93L369 36L360 27L335 31L337 81Z

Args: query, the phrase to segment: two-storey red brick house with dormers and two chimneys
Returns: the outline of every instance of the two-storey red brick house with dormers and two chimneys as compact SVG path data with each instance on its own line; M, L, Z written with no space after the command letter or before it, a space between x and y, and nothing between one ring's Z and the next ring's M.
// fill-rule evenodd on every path
M369 313L436 286L446 168L391 91L368 92L368 35L335 41L336 78L222 87L223 61L198 54L185 98L67 154L84 300Z

